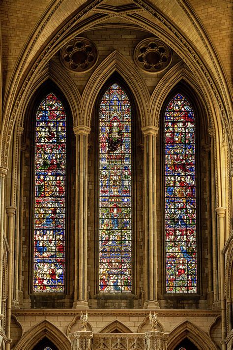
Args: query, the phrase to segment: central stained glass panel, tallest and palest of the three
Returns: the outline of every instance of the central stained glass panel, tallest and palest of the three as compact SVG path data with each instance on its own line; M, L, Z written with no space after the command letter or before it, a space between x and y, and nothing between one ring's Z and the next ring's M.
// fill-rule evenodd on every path
M121 87L103 95L99 112L99 288L131 292L131 106Z

